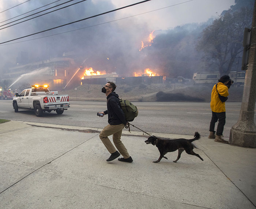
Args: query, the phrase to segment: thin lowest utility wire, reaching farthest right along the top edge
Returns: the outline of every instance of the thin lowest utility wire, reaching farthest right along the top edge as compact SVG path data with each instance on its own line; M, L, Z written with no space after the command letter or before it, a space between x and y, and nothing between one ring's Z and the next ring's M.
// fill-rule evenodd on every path
M193 1L193 0L189 0L189 1ZM41 39L41 38L51 37L51 36L54 36L54 35L60 35L60 34L64 34L64 33L70 33L70 32L74 32L74 31L77 31L77 30L86 29L86 28L89 28L89 27L99 26L99 25L106 24L106 23L116 22L116 21L118 21L118 20L123 20L123 19L127 19L127 18L132 18L132 17L138 16L138 15L144 15L144 14L147 14L147 13L150 13L150 12L154 12L154 11L158 11L158 10L161 10L161 9L165 9L165 8L169 8L169 7L174 7L174 6L179 5L179 4L188 3L189 1L184 1L184 2L181 2L181 3L178 3L178 4L173 4L173 5L170 5L170 6L167 6L167 7L162 7L162 8L159 8L159 9L154 9L154 10L151 10L151 11L148 11L148 12L143 12L143 13L140 13L140 14L137 14L137 15L132 15L132 16L128 16L128 17L125 17L125 18L116 19L116 20L111 20L111 21L108 21L108 22L99 23L99 24L95 24L95 25L92 25L92 26L87 26L87 27L83 27L83 28L78 28L78 29L75 29L75 30L69 30L69 31L65 31L65 32L63 32L63 33L57 33L57 34L52 34L52 35L46 35L46 36L44 36L44 37L33 38L33 39L26 40L26 41L18 41L18 42L15 42L15 43L22 43L22 42L27 42L27 41L33 41L33 40L37 40L37 39ZM0 44L1 44L1 43L0 43ZM10 45L10 44L14 44L14 43L7 43L7 44L3 44L2 46Z

